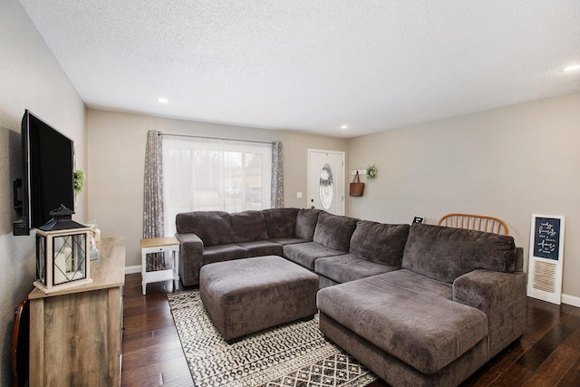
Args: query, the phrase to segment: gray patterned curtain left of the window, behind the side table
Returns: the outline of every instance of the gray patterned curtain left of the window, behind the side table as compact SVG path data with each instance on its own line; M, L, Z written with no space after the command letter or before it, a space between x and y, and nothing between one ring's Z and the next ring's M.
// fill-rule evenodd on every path
M145 185L143 194L143 238L163 237L163 162L159 131L147 132L145 150ZM162 253L147 256L147 271L164 269L165 256Z

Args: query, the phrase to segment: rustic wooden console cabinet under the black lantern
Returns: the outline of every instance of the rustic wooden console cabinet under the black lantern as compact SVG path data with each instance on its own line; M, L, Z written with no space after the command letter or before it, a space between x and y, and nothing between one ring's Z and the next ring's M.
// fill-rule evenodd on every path
M103 238L92 283L30 300L30 386L121 385L125 240Z

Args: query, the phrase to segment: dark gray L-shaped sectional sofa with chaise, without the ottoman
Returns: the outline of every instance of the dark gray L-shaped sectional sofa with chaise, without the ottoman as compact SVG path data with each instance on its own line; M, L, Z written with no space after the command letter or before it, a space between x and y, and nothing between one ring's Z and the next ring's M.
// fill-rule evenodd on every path
M324 335L394 386L457 385L526 328L513 237L297 208L198 211L176 222L184 285L213 262L284 256L319 276Z

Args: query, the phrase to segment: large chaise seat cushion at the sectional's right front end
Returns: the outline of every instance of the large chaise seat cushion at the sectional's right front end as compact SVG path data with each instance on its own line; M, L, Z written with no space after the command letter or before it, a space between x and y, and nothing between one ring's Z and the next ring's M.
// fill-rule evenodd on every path
M487 340L486 314L450 292L449 284L396 270L326 287L317 300L321 313L430 374Z

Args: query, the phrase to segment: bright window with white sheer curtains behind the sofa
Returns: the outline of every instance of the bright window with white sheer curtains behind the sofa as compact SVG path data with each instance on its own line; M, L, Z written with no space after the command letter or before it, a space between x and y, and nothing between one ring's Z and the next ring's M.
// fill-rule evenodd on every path
M272 144L197 137L163 138L165 217L270 207ZM165 235L175 222L165 222Z

